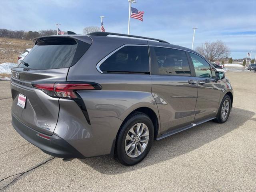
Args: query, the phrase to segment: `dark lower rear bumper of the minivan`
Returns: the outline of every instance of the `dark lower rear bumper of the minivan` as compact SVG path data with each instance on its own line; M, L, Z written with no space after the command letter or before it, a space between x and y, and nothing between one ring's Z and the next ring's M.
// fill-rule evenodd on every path
M85 158L73 146L64 139L53 134L48 138L42 138L36 130L26 126L12 114L12 126L24 139L40 148L43 152L59 158Z

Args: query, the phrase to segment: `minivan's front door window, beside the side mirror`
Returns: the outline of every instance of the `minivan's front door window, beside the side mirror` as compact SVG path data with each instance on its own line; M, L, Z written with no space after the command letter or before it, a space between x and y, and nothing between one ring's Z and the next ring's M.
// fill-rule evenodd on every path
M197 77L212 77L210 65L202 57L189 53L195 68Z

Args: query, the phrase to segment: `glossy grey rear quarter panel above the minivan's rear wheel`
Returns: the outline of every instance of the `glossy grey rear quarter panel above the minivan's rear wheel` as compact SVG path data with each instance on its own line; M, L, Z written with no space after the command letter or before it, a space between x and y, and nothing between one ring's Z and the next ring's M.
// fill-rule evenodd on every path
M99 74L86 78L102 86L98 91L78 91L90 118L113 116L124 120L140 107L151 108L158 116L149 74Z

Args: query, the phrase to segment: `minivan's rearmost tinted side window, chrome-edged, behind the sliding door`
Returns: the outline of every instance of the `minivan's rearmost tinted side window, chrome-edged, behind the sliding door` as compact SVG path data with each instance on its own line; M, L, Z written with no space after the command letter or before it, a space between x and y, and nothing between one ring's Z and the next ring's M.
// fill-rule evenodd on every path
M149 72L148 46L124 46L101 65L102 72Z

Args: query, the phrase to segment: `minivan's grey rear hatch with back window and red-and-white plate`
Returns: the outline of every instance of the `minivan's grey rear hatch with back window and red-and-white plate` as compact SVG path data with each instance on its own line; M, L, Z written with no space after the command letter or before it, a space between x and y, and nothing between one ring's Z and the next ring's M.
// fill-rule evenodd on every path
M81 39L81 37L79 37ZM22 123L52 135L58 121L59 98L35 84L65 82L69 67L90 47L74 36L49 36L34 40L35 46L16 68L12 68L12 114ZM89 42L89 43L88 43Z

